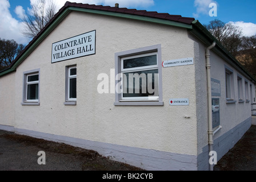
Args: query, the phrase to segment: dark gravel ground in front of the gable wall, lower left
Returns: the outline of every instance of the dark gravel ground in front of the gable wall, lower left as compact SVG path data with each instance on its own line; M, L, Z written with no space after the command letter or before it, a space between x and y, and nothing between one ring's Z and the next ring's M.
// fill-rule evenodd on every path
M46 164L42 154L45 152ZM141 171L92 150L0 130L0 171Z

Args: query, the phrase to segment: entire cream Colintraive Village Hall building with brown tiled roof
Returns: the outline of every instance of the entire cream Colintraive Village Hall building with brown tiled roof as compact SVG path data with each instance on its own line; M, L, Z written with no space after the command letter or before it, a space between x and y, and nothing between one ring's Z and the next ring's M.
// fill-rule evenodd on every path
M194 18L66 2L0 72L0 103L1 130L212 170L251 126L255 80Z

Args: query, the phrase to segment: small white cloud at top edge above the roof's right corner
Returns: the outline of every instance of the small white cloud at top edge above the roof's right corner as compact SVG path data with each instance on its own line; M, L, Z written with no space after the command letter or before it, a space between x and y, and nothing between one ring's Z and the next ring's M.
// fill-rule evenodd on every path
M198 18L200 14L203 15L209 15L209 5L210 3L216 3L213 0L195 0L194 1L194 6L197 8L197 13L193 13L194 18Z

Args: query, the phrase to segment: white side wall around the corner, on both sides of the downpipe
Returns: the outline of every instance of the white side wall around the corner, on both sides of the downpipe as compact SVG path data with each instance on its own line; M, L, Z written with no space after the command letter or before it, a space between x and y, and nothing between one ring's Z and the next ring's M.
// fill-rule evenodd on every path
M198 154L201 154L204 147L207 147L208 144L208 113L205 108L207 108L207 80L206 80L206 60L205 60L205 50L206 46L199 43L198 40L195 40L195 83L196 83L196 95L197 102L200 103L197 105L197 136L198 136ZM236 126L246 121L251 117L251 102L238 102L238 85L237 85L237 74L243 77L243 98L245 98L245 78L249 81L253 88L255 88L254 82L250 81L250 78L247 77L243 72L238 71L236 67L230 65L222 57L217 55L217 53L210 51L210 72L211 78L215 78L221 82L221 96L212 96L212 98L219 98L219 109L220 109L220 125L222 129L219 130L214 135L214 140L221 137L223 134L226 134L231 129L234 129ZM233 69L234 77L234 99L236 103L227 104L226 103L226 76L225 76L225 65ZM250 89L250 88L249 88ZM249 90L250 95L250 90ZM255 97L255 93L253 93ZM250 96L249 96L250 98ZM224 140L222 142L225 142Z

